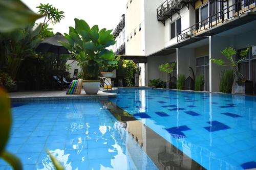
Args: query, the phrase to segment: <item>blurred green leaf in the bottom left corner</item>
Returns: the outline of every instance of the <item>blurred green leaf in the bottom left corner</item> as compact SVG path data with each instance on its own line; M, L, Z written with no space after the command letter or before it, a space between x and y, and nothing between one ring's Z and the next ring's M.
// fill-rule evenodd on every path
M22 170L22 162L20 162L19 158L16 157L15 155L3 151L0 155L5 161L7 161L14 170Z

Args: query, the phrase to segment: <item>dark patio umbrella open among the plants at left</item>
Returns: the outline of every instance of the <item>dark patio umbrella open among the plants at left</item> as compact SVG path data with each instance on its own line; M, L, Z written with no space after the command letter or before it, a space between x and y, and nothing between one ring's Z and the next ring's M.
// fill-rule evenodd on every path
M46 37L36 48L37 52L50 52L57 54L57 68L59 55L70 54L68 49L61 45L61 43L58 41L68 42L68 40L62 34L56 33L54 36Z

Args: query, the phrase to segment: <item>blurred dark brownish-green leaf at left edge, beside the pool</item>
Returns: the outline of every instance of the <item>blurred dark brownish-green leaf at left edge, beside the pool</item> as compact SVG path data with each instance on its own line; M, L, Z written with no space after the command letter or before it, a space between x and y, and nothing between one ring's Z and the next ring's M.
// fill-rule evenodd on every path
M11 128L11 102L8 94L0 87L0 153L4 151Z

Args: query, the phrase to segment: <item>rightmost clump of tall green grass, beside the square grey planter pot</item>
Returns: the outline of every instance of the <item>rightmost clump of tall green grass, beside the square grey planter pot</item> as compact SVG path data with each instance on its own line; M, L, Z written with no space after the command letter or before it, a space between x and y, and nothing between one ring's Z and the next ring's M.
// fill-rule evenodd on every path
M234 80L234 71L226 69L221 71L220 75L220 92L231 93Z

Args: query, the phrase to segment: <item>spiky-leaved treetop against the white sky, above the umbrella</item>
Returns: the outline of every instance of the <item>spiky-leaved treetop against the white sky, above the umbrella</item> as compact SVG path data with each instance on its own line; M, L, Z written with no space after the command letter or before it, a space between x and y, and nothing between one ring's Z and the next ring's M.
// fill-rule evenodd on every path
M42 23L42 27L41 27L41 31L40 31L42 37L44 37L43 31L48 27L47 25L50 20L52 21L52 23L58 23L58 22L60 22L60 20L62 18L65 17L63 15L64 14L63 11L58 11L57 8L55 8L49 4L40 4L36 8L39 9L39 11L38 11L39 14L45 16L45 19L44 19L44 22Z

